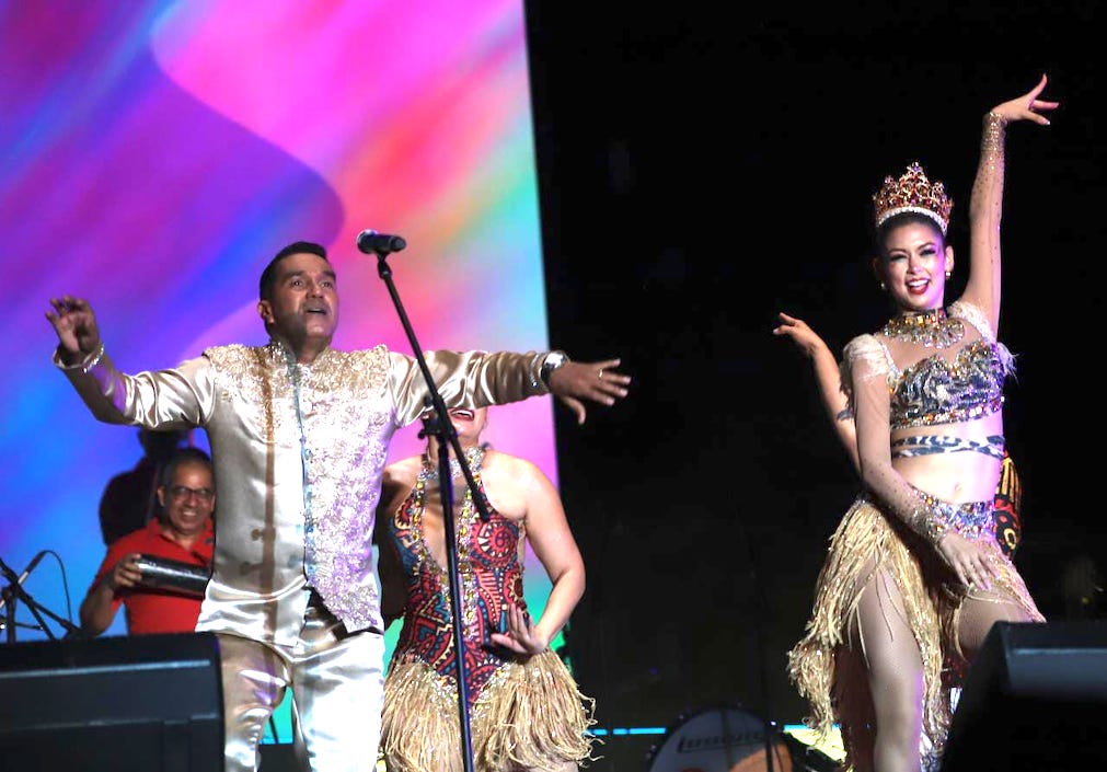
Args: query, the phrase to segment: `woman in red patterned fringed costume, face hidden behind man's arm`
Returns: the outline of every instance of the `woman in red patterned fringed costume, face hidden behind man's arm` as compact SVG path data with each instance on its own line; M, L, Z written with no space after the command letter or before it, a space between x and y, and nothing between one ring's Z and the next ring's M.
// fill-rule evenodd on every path
M478 772L570 772L590 758L591 700L549 644L584 591L584 563L554 484L530 462L480 443L487 408L449 418L489 505L483 522L457 464L466 694ZM454 627L438 495L438 440L385 467L376 519L383 610L403 616L384 681L381 749L389 772L459 772ZM541 617L523 598L524 544L552 581Z

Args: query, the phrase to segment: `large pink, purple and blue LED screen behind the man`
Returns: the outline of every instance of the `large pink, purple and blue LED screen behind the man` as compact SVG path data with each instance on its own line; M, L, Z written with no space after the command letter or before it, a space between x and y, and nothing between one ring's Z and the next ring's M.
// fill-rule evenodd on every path
M547 348L521 0L6 2L0 35L0 557L48 550L24 588L50 614L76 621L101 493L141 454L51 363L50 298L87 298L121 369L170 367L263 343L258 276L308 239L339 272L335 346L411 353L355 247L373 228L407 241L386 265L423 349ZM549 398L494 408L486 439L557 482ZM9 639L46 635L17 604Z

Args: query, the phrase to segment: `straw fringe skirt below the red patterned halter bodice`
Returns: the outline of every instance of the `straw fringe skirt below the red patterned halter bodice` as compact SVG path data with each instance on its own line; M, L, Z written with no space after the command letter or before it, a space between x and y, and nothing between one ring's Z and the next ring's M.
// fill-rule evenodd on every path
M469 711L478 772L549 769L591 760L594 702L552 651L504 663ZM384 681L381 750L389 772L462 772L457 690L417 659Z

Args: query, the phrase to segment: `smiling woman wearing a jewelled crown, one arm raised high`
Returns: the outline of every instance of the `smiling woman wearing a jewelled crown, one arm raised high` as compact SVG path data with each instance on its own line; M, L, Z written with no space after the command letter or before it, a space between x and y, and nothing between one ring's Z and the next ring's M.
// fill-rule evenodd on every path
M1003 383L995 338L1000 219L1010 123L1048 125L1046 78L984 119L970 202L969 279L945 305L952 200L918 163L873 196L872 266L896 313L845 348L842 389L863 490L830 545L788 673L809 724L841 728L845 768L937 769L951 718L949 673L995 621L1043 617L995 539Z

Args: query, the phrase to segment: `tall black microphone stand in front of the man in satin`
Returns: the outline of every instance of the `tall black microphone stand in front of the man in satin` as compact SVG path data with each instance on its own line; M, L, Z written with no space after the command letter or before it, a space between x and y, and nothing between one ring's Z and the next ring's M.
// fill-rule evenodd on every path
M469 727L468 688L466 686L467 679L465 668L465 638L463 635L464 622L462 617L462 593L461 578L457 570L457 538L455 536L454 527L453 475L449 471L451 447L454 449L454 454L457 456L462 472L465 474L465 482L468 484L469 490L473 491L473 503L480 513L480 519L487 523L492 517L492 513L488 512L488 505L484 501L484 496L477 495L476 481L473 478L473 470L469 469L468 460L465 457L461 441L457 439L457 430L454 429L454 424L449 420L449 412L446 410L446 403L443 401L442 394L438 392L438 387L435 384L434 378L431 374L431 368L427 366L426 359L423 357L423 348L418 344L418 341L415 338L415 331L412 329L406 311L404 311L403 302L401 302L400 295L396 292L396 286L392 281L392 268L386 261L390 250L379 245L373 249L373 251L376 254L377 258L376 272L389 288L389 295L392 297L392 302L396 307L396 312L400 315L400 321L403 323L404 332L407 334L407 340L411 343L412 351L415 354L415 359L418 361L420 370L423 371L423 380L426 381L426 387L431 392L426 398L426 404L433 408L434 418L423 420L424 429L420 432L420 436L424 438L433 433L438 438L438 491L439 496L442 497L442 522L445 527L446 563L449 572L449 606L454 624L454 662L457 672L457 712L462 730L462 762L465 772L473 772L473 732Z

